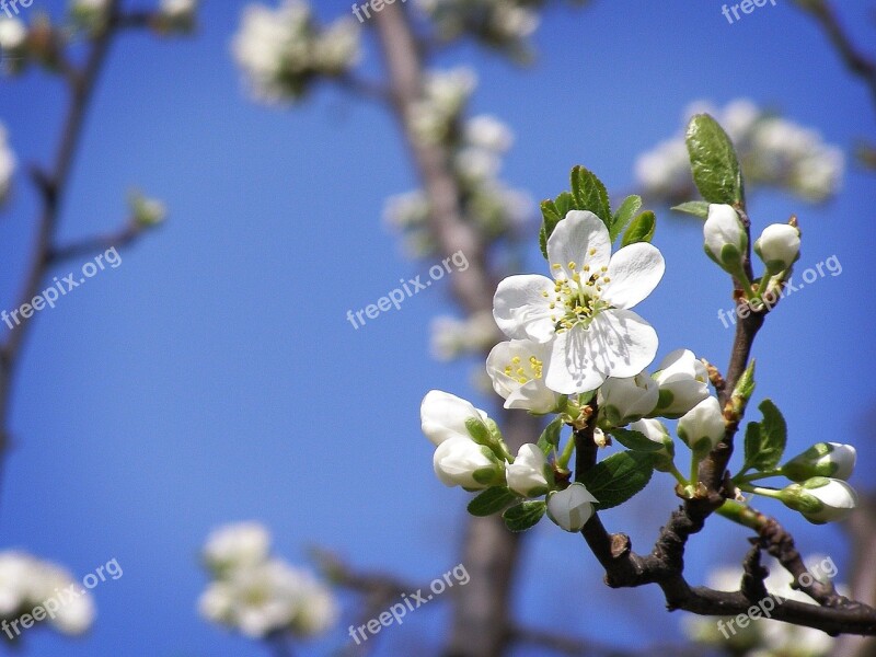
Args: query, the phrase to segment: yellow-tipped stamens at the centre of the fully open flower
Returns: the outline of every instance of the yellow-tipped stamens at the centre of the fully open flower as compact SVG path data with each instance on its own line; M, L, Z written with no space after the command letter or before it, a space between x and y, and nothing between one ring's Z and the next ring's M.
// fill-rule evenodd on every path
M562 269L561 265L555 264L553 267ZM586 330L600 312L611 308L611 303L601 298L602 286L611 283L611 278L606 275L608 267L591 272L590 265L584 265L579 272L578 265L570 262L568 269L572 272L572 279L557 278L554 281L554 297L549 306L556 311L555 315L551 315L556 333L578 325ZM542 295L550 298L546 291Z

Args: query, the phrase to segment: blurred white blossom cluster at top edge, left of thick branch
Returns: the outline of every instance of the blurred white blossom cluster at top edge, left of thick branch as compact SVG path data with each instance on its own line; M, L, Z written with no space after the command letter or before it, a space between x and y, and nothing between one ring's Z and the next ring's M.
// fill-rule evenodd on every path
M348 16L320 25L306 0L243 10L232 53L253 96L266 103L303 97L321 77L339 78L359 57L359 26Z

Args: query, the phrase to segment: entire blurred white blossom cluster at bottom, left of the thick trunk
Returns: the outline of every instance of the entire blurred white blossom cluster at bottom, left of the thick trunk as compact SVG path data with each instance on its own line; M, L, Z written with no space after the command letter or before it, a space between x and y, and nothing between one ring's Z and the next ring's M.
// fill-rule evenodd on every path
M312 574L270 555L270 534L257 522L215 530L204 546L211 581L201 615L252 638L275 633L306 638L337 620L335 598Z

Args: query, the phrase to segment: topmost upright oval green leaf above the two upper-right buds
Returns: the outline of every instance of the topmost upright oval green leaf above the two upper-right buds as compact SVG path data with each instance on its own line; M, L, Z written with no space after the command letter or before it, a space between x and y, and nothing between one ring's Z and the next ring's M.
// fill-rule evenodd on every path
M685 136L693 182L708 203L734 205L745 198L739 160L727 132L708 114L698 114Z

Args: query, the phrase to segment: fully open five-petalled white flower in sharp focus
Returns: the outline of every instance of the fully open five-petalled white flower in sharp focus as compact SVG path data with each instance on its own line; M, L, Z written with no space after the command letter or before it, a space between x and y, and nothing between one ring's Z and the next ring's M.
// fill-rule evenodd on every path
M611 256L609 231L588 211L570 211L548 240L554 280L510 276L493 303L508 337L551 343L545 382L573 394L595 390L608 377L634 377L654 359L657 334L629 310L662 277L660 252L647 243Z

